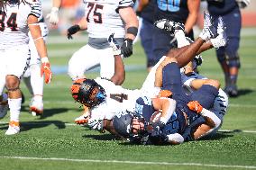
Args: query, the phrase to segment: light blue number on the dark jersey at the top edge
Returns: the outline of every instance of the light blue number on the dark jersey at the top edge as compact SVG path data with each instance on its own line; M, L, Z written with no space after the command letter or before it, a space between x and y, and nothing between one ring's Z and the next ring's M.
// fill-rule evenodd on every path
M162 11L178 12L180 0L157 0Z

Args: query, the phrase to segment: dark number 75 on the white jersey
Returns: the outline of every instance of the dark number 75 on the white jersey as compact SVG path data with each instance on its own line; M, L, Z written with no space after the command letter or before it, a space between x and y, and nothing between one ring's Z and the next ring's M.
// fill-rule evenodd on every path
M94 4L94 3L88 3L87 5L88 13L87 13L87 22L89 21L89 15L93 13L94 22L96 23L102 23L102 11L103 5L101 4Z

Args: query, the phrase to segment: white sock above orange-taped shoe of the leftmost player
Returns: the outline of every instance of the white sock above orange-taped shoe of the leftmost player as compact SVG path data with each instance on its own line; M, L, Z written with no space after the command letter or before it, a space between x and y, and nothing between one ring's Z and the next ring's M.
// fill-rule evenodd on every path
M8 104L10 108L10 121L20 121L22 98L10 99L8 98Z

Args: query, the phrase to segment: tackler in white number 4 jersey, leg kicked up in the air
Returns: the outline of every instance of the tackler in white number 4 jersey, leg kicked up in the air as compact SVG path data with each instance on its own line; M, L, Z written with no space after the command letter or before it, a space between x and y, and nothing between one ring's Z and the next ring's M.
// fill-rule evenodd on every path
M206 28L203 30L203 32L205 32L205 33L202 33L201 35L203 37L205 36L204 38L208 40L211 38L209 31L210 31L210 29L214 29L214 28L211 27L210 23L208 23L208 22L210 22L208 16L206 16L206 20L207 20L206 21L207 24L205 24ZM211 28L209 28L209 27L211 27ZM206 35L206 34L208 34L208 35ZM202 46L202 44L204 44L204 42L205 42L205 40L203 40L202 38L199 38L196 41L197 41L197 43L194 42L192 45L188 45L186 48L173 49L172 52L169 53L169 57L177 58L179 67L185 66L187 64L187 62L189 62L189 60L191 58L193 58L193 55L195 56L195 54L197 53L197 50L199 50L200 47ZM191 50L189 48L191 48ZM187 56L184 56L181 51L184 51L187 49L189 51L191 51L191 53L188 53ZM196 51L194 51L193 49ZM96 103L96 105L94 107L91 107L90 111L87 112L86 115L82 115L78 119L76 119L76 122L78 124L83 123L83 122L88 122L87 124L89 125L89 127L93 128L93 129L103 130L105 128L105 126L103 126L103 125L104 124L106 125L106 123L104 123L103 120L105 120L105 117L107 117L109 115L111 115L111 119L113 119L114 114L116 112L118 112L118 111L115 111L115 109L114 109L114 108L119 108L119 107L117 107L118 104L128 103L131 105L130 108L132 110L126 109L126 106L124 106L123 111L126 111L126 110L134 111L134 105L135 105L135 102L136 102L136 99L138 98L138 96L143 96L144 94L147 94L148 96L153 97L156 94L158 94L160 91L160 88L155 87L155 85L154 85L155 73L156 73L157 67L160 66L160 63L165 58L166 57L163 57L160 60L160 62L158 63L158 65L156 65L156 67L153 67L151 69L151 72L150 72L149 76L147 76L144 84L142 85L142 88L140 90L135 90L134 92L132 92L132 90L123 89L123 92L120 93L121 91L117 90L117 89L121 88L120 86L116 86L112 82L109 82L105 79L97 78L96 79L97 84L95 83L95 85L96 86L100 85L103 87L103 89L105 89L105 92L108 91L111 93L107 92L107 93L105 93L105 95L101 95L101 96L103 96L104 100L101 99L100 104ZM75 81L71 87L71 91L72 91L71 93L72 93L74 99L76 101L78 101L79 103L86 104L86 105L88 104L89 101L91 101L91 99L89 99L88 96L90 96L92 94L92 90L94 89L94 87L96 87L96 86L94 86L94 87L90 88L91 85L87 85L87 80L88 79L81 79L81 80ZM100 84L99 80L107 82L108 86L104 85L104 84ZM128 95L126 95L125 93L128 93ZM135 93L137 93L137 94L135 94ZM105 102L106 100L111 100L111 96L112 96L114 105L107 104L107 102ZM99 99L96 99L96 101L97 100L99 100ZM81 101L84 101L84 102L81 102ZM90 113L90 112L96 111L99 108L104 108L103 105L105 105L105 109L103 109L102 112ZM109 107L109 109L107 109L107 107ZM114 111L114 114L106 112L106 111L111 111L111 110ZM96 116L96 118L93 118L93 116Z

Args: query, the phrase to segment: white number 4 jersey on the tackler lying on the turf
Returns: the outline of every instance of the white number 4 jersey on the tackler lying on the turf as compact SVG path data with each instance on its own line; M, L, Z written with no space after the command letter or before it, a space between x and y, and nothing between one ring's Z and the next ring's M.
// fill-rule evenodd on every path
M114 85L113 82L100 77L95 80L97 84L105 89L106 99L104 103L101 103L90 111L88 126L94 130L103 130L104 119L112 120L120 112L135 112L136 100L141 96L151 96L151 92L155 91L154 87L147 91L143 89L125 89L120 85Z

